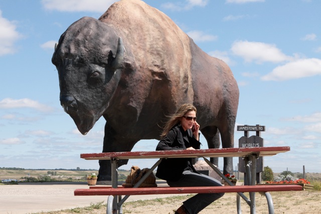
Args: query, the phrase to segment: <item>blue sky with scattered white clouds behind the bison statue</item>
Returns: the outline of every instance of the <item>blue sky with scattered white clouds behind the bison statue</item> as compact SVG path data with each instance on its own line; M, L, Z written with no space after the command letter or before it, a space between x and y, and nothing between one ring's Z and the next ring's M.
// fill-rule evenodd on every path
M99 168L80 154L102 151L104 119L86 136L79 133L60 106L51 57L73 22L98 19L114 2L0 0L0 167ZM264 146L291 147L266 157L265 166L302 172L304 165L306 172L321 172L321 1L144 2L230 66L240 89L236 125L260 124L266 127ZM235 129L235 147L243 134ZM152 151L156 144L142 140L133 151ZM152 162L130 160L121 168Z

